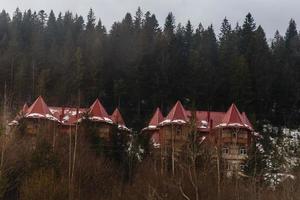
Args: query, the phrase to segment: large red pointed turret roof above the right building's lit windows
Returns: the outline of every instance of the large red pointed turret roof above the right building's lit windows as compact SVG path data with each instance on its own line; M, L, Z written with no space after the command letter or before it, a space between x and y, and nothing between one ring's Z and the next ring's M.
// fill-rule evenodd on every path
M222 126L244 126L244 120L235 104L232 104L227 110L222 123Z

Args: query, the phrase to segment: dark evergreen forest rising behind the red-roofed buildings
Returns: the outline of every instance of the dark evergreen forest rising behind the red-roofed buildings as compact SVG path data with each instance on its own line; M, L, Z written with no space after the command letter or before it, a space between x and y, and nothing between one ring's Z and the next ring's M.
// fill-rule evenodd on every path
M218 34L216 34L216 32ZM300 36L293 19L271 42L248 13L221 29L176 23L155 14L103 26L91 9L0 14L0 91L11 116L42 95L48 105L88 107L99 97L119 107L129 127L144 127L156 107L225 111L234 102L253 123L299 125ZM1 108L4 95L0 95Z

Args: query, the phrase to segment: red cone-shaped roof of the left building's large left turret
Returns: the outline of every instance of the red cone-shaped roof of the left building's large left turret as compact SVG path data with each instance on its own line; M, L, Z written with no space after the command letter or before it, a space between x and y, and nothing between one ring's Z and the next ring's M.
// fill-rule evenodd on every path
M42 115L44 117L46 117L46 115L52 115L47 104L41 96L39 96L35 100L35 102L28 108L26 117L33 117L35 114Z

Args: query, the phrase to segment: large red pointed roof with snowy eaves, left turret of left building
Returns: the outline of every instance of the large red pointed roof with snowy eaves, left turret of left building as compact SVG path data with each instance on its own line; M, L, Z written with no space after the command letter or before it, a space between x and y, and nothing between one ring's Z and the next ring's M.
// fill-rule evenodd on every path
M39 96L35 102L27 109L25 117L27 118L47 118L50 120L56 120L49 110L49 107L45 103L44 99Z

